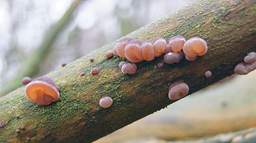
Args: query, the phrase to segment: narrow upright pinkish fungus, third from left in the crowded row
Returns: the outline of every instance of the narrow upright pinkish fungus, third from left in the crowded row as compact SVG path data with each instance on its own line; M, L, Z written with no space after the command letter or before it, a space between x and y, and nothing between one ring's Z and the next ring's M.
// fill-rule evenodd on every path
M145 40L141 44L141 53L144 60L150 61L154 57L154 46L150 40Z

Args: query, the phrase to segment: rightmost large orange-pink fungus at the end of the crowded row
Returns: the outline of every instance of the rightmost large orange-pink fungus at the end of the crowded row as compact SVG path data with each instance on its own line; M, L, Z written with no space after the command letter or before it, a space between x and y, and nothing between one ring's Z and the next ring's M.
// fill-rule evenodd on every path
M192 37L185 42L183 52L187 57L194 58L197 55L201 56L207 52L206 41L199 37Z

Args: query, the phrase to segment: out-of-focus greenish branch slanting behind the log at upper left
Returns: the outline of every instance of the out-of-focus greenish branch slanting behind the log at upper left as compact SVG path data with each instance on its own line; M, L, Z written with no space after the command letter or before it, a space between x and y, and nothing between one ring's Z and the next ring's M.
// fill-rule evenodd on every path
M25 58L25 60L22 62L21 69L17 72L17 76L7 84L3 84L3 86L0 88L0 97L16 88L19 88L22 85L21 80L25 76L31 77L38 72L41 61L52 48L52 45L56 41L59 33L61 33L66 25L68 25L73 12L81 1L82 0L74 0L62 18L60 18L59 21L57 21L50 27L49 30L47 30L47 32L45 32L42 43L36 48L35 51Z

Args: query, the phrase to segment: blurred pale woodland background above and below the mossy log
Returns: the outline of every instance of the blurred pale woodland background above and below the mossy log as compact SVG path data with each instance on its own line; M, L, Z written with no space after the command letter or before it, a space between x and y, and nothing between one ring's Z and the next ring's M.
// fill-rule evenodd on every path
M24 76L47 74L192 1L0 0L0 97ZM95 143L188 140L254 127L255 78L254 71L213 85Z

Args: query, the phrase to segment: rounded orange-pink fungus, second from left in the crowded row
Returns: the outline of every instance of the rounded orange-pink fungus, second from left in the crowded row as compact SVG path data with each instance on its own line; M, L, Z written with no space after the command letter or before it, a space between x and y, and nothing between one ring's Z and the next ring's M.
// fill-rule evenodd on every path
M124 55L127 60L130 62L140 62L144 60L141 54L141 43L140 40L134 39L126 45Z

